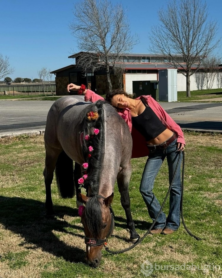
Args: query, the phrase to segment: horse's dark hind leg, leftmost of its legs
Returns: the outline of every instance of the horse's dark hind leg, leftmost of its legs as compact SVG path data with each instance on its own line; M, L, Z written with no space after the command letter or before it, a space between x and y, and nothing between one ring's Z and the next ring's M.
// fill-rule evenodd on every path
M59 151L61 152L61 151ZM45 169L43 171L44 179L45 179L45 187L46 187L46 215L53 215L52 209L52 193L51 193L51 184L53 180L53 173L56 166L56 161L59 156L59 152L49 152L46 151L46 158L45 158Z

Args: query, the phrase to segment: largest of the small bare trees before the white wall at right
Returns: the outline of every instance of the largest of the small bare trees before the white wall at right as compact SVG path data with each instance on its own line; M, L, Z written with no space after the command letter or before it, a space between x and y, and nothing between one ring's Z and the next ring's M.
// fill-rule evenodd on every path
M216 73L219 71L219 60L216 57L207 57L203 60L201 68L205 73L206 89L212 89Z

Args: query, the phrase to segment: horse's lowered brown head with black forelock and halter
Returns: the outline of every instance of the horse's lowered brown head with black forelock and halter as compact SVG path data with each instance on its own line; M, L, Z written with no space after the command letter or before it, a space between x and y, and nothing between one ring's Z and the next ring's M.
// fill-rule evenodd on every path
M86 197L80 194L86 208L81 215L81 223L85 232L86 262L93 267L99 266L102 247L114 229L114 214L110 204L113 193L104 198L101 195Z

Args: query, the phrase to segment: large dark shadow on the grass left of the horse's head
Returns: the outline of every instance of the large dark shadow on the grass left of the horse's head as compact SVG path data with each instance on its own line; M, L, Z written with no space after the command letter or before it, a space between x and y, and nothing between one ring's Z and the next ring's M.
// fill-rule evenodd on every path
M0 223L6 229L25 238L21 245L27 249L41 247L43 251L63 257L66 261L84 262L85 251L65 244L53 233L54 230L70 234L65 228L83 230L62 219L64 214L77 216L78 210L54 205L54 211L62 213L59 214L60 218L44 217L44 203L40 201L0 196ZM71 234L83 238L81 234ZM30 243L35 244L36 247L30 247Z

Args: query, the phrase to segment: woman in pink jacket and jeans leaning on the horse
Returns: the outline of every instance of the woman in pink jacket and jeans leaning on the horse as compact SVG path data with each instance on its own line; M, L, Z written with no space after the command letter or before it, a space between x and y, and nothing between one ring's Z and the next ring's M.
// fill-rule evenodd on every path
M85 86L69 84L67 90L75 90L85 95L85 101L95 102L103 99ZM175 173L170 190L170 209L168 217L164 212L157 218L152 234L171 234L180 225L180 200L181 178L180 165L185 141L183 132L174 120L151 96L140 96L131 99L123 90L113 90L106 95L106 101L114 106L118 113L129 126L133 138L133 157L148 156L140 184L140 193L144 199L152 220L155 220L160 211L160 204L152 190L155 178L165 158L169 169L169 182L171 183L176 165L179 166Z

